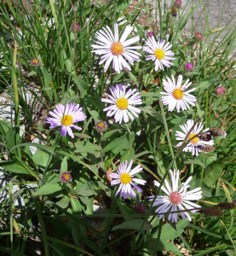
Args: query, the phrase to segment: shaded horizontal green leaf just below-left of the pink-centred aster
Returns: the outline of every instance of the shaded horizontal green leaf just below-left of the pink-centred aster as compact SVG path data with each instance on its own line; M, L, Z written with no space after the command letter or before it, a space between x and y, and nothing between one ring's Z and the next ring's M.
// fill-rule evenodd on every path
M143 225L141 229L142 224L143 224L143 219L132 219L132 220L124 221L124 223L122 224L118 224L117 226L112 228L112 231L115 231L115 230L146 231L146 230L152 229L152 225L147 224L147 222Z

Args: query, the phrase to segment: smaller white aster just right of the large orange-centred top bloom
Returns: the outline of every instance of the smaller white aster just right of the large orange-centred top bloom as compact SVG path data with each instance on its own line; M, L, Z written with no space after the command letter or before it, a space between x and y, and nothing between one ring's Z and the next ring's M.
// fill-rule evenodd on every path
M171 63L170 61L176 59L173 58L175 54L170 50L172 44L170 44L169 42L166 44L164 43L164 39L158 40L157 43L155 38L151 37L147 39L147 46L143 47L143 49L147 51L146 61L155 61L155 71L158 71L158 68L164 70L164 66L170 67L171 65L173 65L173 63Z

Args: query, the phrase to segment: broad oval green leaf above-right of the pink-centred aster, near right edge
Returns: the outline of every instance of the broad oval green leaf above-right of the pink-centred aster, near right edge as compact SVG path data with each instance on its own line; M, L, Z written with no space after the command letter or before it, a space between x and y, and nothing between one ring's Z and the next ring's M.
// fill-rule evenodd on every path
M223 163L220 161L213 161L209 166L206 167L204 172L204 183L207 186L211 186L219 179L219 177L221 177L222 171Z

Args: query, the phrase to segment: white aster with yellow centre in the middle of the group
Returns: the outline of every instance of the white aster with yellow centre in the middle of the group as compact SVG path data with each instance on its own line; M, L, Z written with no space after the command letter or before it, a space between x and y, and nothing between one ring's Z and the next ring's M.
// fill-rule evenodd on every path
M112 104L110 107L104 108L104 111L107 111L106 116L114 115L115 122L119 124L122 123L123 119L124 123L128 123L129 118L133 120L133 115L138 117L137 113L141 113L141 110L133 105L141 104L141 96L139 92L136 92L136 89L125 92L126 84L116 84L116 87L111 86L109 90L112 95L106 93L108 98L101 99L101 102Z

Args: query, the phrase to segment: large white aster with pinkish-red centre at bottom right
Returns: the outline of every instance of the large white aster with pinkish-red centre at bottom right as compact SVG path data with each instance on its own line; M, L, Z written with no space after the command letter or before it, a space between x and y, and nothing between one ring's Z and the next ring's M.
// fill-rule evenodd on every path
M155 202L153 203L153 207L158 208L155 210L159 214L158 218L163 218L166 212L170 212L168 220L172 223L176 223L178 219L178 212L183 211L185 209L191 210L193 208L200 208L199 205L193 203L192 201L199 200L202 198L201 188L193 189L187 191L190 187L189 183L192 177L188 177L185 183L181 184L181 188L179 189L179 171L172 172L170 170L171 183L165 179L164 184L161 186L161 190L166 195L158 195L156 197ZM155 186L159 187L160 183L154 181ZM149 201L153 201L154 196L149 197ZM197 210L191 210L190 212L196 212ZM172 213L173 212L173 213ZM191 217L188 212L180 212L181 217L185 219L186 217L191 221Z

